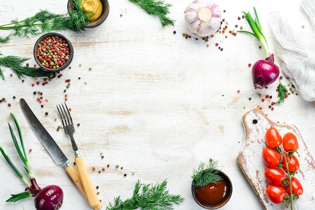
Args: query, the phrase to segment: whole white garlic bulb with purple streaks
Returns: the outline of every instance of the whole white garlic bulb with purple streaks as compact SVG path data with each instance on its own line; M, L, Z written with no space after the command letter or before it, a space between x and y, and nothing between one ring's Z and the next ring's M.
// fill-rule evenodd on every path
M195 0L185 11L185 21L191 32L205 37L221 26L221 9L211 0Z

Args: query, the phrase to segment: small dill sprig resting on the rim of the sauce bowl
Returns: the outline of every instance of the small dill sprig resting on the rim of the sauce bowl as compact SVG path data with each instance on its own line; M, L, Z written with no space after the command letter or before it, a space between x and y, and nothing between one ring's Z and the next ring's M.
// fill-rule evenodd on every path
M205 163L199 164L198 169L193 170L192 185L196 187L204 187L209 183L218 183L222 177L218 174L219 170L215 170L218 162L212 159L209 160L208 166L205 168Z

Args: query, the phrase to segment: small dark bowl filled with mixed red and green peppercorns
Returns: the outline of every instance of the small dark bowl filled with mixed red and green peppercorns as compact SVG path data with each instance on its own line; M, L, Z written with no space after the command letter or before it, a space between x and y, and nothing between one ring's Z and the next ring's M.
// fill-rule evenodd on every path
M44 70L60 71L71 63L73 47L65 36L48 33L41 36L35 43L34 58Z

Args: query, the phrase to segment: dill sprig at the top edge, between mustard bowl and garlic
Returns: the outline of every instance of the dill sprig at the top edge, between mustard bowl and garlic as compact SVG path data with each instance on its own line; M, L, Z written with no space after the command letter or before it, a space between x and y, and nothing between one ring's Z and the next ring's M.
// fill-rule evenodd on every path
M129 0L131 3L135 4L149 15L154 15L160 19L160 22L165 28L165 26L174 26L175 21L167 17L170 14L169 8L172 7L171 4L167 4L162 0Z

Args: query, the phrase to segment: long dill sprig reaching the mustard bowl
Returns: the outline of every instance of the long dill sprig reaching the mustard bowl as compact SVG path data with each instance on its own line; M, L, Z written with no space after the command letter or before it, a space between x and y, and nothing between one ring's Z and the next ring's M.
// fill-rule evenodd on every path
M23 21L14 19L10 24L0 26L0 30L14 30L7 37L0 37L1 43L7 43L10 36L29 38L44 32L71 30L80 32L85 30L84 26L91 21L89 15L80 8L81 0L73 0L71 3L72 11L66 15L54 14L48 10L40 10L34 16Z

